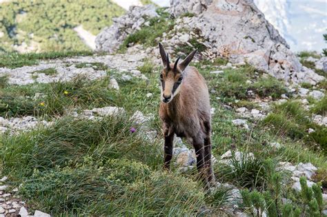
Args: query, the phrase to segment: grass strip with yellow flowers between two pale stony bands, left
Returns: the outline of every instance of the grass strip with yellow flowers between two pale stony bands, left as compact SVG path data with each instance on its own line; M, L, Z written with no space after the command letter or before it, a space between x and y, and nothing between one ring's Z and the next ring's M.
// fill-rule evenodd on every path
M115 91L108 87L109 79L90 81L78 76L72 81L49 84L10 85L0 90L1 116L58 116L79 107L88 109L115 105ZM37 99L35 94L43 93Z

